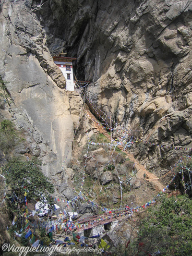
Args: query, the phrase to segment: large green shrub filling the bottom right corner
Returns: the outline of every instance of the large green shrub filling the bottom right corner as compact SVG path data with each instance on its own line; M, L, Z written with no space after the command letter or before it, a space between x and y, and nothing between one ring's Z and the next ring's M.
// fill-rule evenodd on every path
M186 195L161 196L142 221L138 243L143 252L152 255L192 255L192 200ZM142 255L142 254L139 254Z

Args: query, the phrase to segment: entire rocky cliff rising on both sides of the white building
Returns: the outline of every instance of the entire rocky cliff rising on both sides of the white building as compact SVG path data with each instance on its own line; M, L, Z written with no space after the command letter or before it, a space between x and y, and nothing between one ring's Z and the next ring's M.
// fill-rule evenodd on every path
M76 100L51 58L63 49L77 57L78 79L92 81L89 98L114 120L144 140L192 147L190 0L3 0L0 10L10 111L18 126L31 127L41 156L57 159L54 168L71 152L81 106L79 98L70 113ZM147 146L142 159L155 170L158 159L168 167L182 152Z

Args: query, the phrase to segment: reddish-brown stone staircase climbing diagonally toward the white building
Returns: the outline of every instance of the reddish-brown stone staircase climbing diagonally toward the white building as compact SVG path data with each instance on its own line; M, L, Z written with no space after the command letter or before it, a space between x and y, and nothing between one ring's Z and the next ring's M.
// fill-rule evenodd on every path
M87 114L89 115L88 118L89 118L89 119L92 119L92 121L94 121L94 126L95 126L95 128L97 129L97 131L98 131L99 133L104 134L104 135L110 140L110 135L107 133L107 131L106 131L101 125L99 125L99 124L97 123L98 121L96 120L96 117L91 113L91 111L89 110L89 108L88 108L87 106L86 106L86 112L87 112ZM124 149L124 147L121 146L121 145L118 145L118 148L119 148L120 150L123 150L123 149ZM129 152L126 152L126 151L124 151L124 153L127 155L127 157L128 157L132 162L135 163L135 168L136 168L136 170L138 171L137 174L136 174L136 176L137 176L138 179L143 179L143 178L144 178L144 173L145 173L145 174L146 174L146 181L153 183L154 186L156 187L156 190L157 190L157 191L162 191L162 190L166 187L166 185L162 184L162 183L159 181L159 178L158 178L155 174L153 174L153 173L147 171L147 170L144 168L144 166L141 165L141 164L139 163L139 161L134 158L134 156L133 156L132 153L129 153ZM166 173L165 175L167 175L167 173ZM163 178L163 176L162 176L161 178Z

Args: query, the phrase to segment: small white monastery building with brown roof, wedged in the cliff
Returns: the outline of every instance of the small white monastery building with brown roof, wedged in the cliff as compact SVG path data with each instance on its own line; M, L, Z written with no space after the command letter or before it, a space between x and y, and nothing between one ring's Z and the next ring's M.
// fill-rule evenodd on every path
M60 70L66 79L66 90L74 91L72 61L75 61L76 58L65 57L64 55L65 53L60 53L60 56L54 56L53 61L60 67Z

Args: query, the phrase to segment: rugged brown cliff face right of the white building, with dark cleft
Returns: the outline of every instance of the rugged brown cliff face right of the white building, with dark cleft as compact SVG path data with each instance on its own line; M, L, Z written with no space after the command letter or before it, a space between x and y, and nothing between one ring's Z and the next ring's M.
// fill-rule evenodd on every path
M140 129L144 140L192 146L190 0L41 4L49 49L64 46L77 57L76 74L93 82L87 94L99 108L125 127ZM148 147L143 158L155 170L157 158L166 157L168 167L182 152Z

